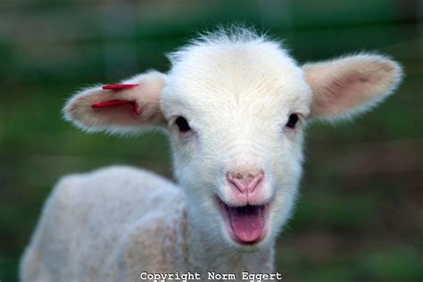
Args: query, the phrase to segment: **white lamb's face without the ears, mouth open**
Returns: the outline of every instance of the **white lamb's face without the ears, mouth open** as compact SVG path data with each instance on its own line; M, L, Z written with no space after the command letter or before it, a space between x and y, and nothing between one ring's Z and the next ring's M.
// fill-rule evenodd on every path
M311 91L273 44L197 47L162 93L175 170L202 229L248 248L274 237L294 202Z

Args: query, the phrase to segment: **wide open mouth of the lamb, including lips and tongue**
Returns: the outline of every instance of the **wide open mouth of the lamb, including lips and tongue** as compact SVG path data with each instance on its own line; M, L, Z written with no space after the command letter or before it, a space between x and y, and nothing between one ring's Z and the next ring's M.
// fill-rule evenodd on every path
M229 234L237 243L253 245L266 236L269 203L233 207L218 200Z

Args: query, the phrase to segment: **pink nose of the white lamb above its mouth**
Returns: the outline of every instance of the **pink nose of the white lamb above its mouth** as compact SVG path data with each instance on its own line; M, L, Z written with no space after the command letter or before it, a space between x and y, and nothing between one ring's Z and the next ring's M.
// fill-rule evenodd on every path
M228 183L241 193L252 193L261 184L264 177L263 170L250 171L229 171L227 173Z

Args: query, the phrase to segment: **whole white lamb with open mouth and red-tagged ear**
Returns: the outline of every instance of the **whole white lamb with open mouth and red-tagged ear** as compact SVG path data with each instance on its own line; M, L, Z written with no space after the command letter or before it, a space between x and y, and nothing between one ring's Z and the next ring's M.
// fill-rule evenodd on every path
M305 123L365 112L402 79L400 65L377 54L299 66L279 42L247 29L207 34L169 58L168 73L85 89L64 114L89 132L161 129L178 186L129 167L62 178L21 261L23 281L273 271Z

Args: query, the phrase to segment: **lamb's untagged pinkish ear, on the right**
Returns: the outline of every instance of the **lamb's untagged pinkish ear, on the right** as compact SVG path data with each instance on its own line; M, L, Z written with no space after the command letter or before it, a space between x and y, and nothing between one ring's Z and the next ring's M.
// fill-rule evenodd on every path
M322 119L365 112L392 94L402 80L401 66L376 54L307 63L303 71L313 95L311 117Z

